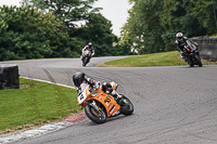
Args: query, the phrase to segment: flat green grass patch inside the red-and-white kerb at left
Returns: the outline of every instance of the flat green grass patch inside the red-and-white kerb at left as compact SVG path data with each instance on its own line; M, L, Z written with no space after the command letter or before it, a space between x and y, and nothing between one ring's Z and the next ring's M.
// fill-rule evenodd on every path
M77 91L20 79L24 89L0 90L0 133L61 120L81 109Z

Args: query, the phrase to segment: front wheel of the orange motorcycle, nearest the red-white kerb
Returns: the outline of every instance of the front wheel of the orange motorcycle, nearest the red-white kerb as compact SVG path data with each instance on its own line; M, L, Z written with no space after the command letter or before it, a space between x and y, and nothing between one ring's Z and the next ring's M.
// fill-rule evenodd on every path
M106 121L106 114L103 108L99 107L99 112L91 105L85 106L85 114L95 123L104 123Z

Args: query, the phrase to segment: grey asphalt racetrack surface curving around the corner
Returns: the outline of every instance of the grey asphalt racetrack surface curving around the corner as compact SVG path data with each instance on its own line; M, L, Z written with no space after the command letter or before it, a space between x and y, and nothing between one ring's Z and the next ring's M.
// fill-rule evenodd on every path
M120 57L92 58L87 67L79 58L9 62L23 77L73 87L72 76L84 71L102 82L116 81L118 91L135 105L131 116L90 120L18 144L216 144L217 66L203 67L95 67ZM1 64L1 63L0 63Z

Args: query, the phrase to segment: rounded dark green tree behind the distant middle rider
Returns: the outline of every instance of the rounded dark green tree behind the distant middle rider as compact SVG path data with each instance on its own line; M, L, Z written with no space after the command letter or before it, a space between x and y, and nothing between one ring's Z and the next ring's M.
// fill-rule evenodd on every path
M75 35L85 39L86 43L93 42L95 55L113 55L113 42L117 37L112 32L112 23L102 14L90 14L82 28L77 29Z

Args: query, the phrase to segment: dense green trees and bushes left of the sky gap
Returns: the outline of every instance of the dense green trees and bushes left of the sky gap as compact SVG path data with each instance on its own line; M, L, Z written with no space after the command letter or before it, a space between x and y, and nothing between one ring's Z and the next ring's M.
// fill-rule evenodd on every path
M112 55L117 37L91 4L95 0L24 0L0 8L0 61L76 57L92 41L97 55ZM77 26L75 22L85 21ZM92 29L94 28L94 29Z

